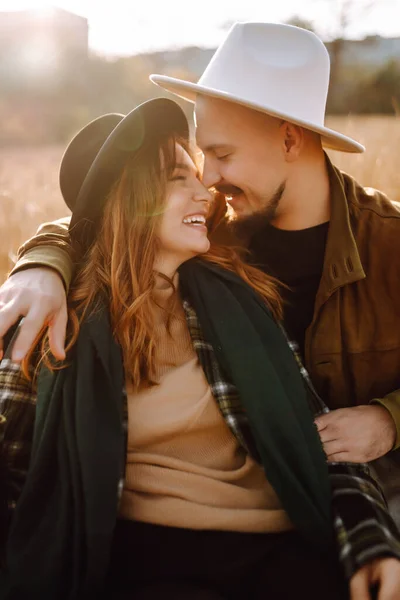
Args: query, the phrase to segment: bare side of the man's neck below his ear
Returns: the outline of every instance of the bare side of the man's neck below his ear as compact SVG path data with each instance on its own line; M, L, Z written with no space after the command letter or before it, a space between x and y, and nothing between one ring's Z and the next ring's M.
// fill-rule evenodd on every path
M305 159L287 181L279 214L272 221L277 229L300 230L330 219L329 176L325 155Z

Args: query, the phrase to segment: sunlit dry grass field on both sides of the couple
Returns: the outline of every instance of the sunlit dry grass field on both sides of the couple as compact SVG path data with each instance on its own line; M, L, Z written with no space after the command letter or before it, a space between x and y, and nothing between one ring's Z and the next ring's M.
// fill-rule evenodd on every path
M363 155L332 152L337 166L362 184L400 201L400 119L330 118L327 125L367 147ZM67 214L58 189L61 147L0 149L0 281L11 268L18 246L43 221Z

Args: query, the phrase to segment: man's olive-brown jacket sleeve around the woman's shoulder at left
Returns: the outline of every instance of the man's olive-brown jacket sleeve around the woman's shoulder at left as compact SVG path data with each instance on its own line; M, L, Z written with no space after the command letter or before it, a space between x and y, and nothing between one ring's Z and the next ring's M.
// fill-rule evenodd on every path
M18 261L10 275L32 267L49 267L59 273L68 290L73 275L70 217L44 223L18 250Z

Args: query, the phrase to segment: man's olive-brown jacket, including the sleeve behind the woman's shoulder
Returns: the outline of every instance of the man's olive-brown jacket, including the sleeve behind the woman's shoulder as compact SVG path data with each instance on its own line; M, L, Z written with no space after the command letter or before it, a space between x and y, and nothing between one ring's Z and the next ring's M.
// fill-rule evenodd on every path
M331 220L305 365L329 408L379 402L400 446L400 206L327 165ZM68 287L69 217L41 226L13 270L47 265ZM229 240L224 219L214 232Z

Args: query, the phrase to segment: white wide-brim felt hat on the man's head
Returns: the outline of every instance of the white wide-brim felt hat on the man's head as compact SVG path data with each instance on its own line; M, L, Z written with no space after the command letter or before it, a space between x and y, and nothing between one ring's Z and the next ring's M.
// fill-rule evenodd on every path
M310 31L278 23L236 23L198 83L151 75L153 83L195 102L198 94L235 102L321 135L342 152L364 152L359 142L325 127L329 54Z

